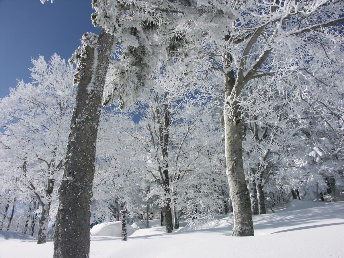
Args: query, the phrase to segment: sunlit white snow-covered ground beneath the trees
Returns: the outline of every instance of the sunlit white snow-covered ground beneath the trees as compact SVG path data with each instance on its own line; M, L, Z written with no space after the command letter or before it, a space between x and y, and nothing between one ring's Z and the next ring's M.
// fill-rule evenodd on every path
M275 211L275 210L274 210ZM301 202L254 216L254 237L232 237L233 216L217 216L200 229L182 227L166 234L152 221L121 242L119 237L91 237L90 257L342 257L344 202ZM183 224L182 224L183 225ZM0 231L0 257L52 257L53 243Z

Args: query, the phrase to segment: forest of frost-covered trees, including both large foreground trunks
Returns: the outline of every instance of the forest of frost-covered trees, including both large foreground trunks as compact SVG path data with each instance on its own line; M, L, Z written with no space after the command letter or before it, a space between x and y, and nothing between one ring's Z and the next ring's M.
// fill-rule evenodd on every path
M41 0L44 3L46 0ZM56 0L58 1L58 0ZM99 35L0 100L0 230L88 257L90 225L166 233L344 190L344 2L93 0ZM326 199L325 198L325 199Z

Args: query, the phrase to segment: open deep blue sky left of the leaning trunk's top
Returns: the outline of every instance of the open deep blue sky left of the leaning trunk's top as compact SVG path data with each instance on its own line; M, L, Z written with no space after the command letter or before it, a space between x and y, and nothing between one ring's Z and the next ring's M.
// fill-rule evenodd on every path
M0 98L16 78L31 82L31 57L57 53L68 60L83 33L100 31L90 19L91 0L0 0L0 11Z

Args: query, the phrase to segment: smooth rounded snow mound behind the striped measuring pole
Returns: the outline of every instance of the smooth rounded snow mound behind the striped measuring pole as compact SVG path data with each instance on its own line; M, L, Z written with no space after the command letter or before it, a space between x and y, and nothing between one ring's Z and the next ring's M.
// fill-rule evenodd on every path
M91 236L121 237L121 223L119 221L105 222L91 228ZM127 224L127 236L135 232L135 228Z

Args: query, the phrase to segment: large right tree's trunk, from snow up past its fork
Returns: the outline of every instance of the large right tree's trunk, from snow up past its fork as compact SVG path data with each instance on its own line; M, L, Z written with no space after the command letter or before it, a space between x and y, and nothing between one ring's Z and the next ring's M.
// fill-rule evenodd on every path
M233 62L229 53L224 56L224 68L230 68ZM253 236L253 222L250 196L248 193L243 166L243 137L239 104L235 100L243 85L236 82L234 71L225 77L225 157L230 196L233 205L233 236Z

